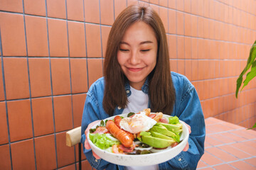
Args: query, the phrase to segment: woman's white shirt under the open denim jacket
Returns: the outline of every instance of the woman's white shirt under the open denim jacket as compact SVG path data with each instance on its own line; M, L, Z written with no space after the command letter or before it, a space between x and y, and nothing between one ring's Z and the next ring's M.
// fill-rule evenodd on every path
M139 111L143 111L144 108L148 108L149 104L149 96L144 94L143 91L139 91L137 89L131 88L131 95L128 97L127 107L124 108L123 113L138 113ZM126 166L124 169L126 170L158 170L159 166L151 165L151 166Z

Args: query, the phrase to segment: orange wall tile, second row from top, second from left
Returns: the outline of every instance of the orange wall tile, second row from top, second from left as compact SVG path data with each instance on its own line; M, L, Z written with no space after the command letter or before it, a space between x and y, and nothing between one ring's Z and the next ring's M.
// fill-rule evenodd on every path
M48 56L46 18L25 16L28 56Z

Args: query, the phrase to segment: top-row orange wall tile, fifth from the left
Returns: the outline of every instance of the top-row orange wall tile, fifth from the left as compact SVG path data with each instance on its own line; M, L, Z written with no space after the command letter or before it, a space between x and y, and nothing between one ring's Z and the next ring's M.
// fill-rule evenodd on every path
M84 0L85 22L100 23L99 1Z

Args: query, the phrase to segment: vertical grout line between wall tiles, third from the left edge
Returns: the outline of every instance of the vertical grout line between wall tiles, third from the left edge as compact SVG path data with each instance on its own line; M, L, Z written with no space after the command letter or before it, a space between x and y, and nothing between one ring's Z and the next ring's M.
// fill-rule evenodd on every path
M51 62L50 62L50 41L49 41L47 0L45 0L45 2L46 2L46 28L47 28L47 42L48 42L48 59L49 59L49 67L50 67L50 91L51 91L52 111L53 111L53 135L54 135L54 145L55 145L55 162L56 162L56 168L58 169L58 152L57 152L57 137L56 137L55 112L54 112L54 101L53 101L53 77L52 77Z

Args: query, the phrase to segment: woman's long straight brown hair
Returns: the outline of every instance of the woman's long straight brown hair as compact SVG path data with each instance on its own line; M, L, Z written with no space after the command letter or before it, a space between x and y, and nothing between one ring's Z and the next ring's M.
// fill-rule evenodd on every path
M103 108L106 113L113 115L117 106L125 108L127 106L127 94L124 84L127 78L117 61L117 51L122 37L136 21L143 21L153 28L158 42L158 52L156 67L149 74L149 100L152 112L163 112L171 114L175 102L175 90L171 80L169 66L169 51L166 40L166 32L159 15L149 6L129 6L119 14L114 21L110 35L107 40L107 50L105 54L104 76L105 92L103 98Z

